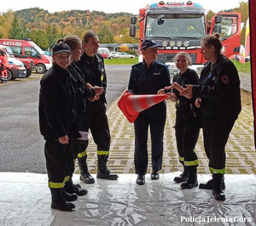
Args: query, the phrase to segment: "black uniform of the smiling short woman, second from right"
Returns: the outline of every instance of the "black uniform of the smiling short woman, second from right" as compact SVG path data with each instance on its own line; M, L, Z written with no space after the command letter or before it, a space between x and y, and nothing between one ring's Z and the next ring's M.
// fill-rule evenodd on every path
M173 82L177 82L183 88L186 88L186 84L197 85L198 80L198 75L192 69L188 69L183 74L177 73L173 77ZM174 89L173 93L178 99L175 132L179 161L185 167L197 166L195 144L200 132L200 110L195 107L195 98L187 99L180 96L177 89Z

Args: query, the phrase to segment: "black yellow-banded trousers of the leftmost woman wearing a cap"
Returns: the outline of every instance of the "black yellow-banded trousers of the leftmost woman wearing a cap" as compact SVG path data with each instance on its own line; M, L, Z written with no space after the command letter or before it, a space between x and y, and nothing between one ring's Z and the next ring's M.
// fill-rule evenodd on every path
M69 139L69 144L61 144L57 139L46 140L44 155L49 178L49 188L63 188L72 173L73 138Z

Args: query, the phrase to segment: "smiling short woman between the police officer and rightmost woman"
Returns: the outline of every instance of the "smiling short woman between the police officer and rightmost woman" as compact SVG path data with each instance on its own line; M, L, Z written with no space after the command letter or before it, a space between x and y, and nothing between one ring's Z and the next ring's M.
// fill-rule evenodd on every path
M171 99L177 102L175 135L179 161L184 168L183 173L175 177L174 181L184 182L181 184L182 189L192 189L198 185L196 172L198 159L195 154L195 144L200 132L200 110L195 107L195 98L187 99L180 96L179 92L186 88L186 84L197 85L199 77L194 70L189 69L192 60L189 54L179 52L174 60L180 72L173 77Z

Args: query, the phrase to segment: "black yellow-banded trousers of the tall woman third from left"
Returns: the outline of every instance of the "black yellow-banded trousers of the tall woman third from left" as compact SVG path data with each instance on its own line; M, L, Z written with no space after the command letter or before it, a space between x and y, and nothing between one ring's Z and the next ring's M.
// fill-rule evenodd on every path
M108 116L106 115L106 106L101 102L86 104L85 114L82 119L81 130L90 133L97 145L97 155L109 154L110 132L108 127ZM86 149L88 141L78 141L79 157L87 155Z

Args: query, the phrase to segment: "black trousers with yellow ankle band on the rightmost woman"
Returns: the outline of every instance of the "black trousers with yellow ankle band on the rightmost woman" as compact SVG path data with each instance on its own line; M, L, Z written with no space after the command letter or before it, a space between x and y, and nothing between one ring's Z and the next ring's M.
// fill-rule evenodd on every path
M224 122L218 117L202 116L204 147L212 173L225 172L225 145L235 121Z

